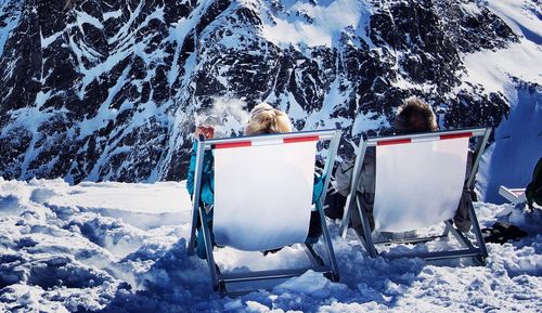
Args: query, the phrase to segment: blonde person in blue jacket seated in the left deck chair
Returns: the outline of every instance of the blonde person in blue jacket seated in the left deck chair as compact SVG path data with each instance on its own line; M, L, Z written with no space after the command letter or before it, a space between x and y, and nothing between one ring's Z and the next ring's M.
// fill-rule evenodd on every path
M258 135L258 134L270 134L270 133L283 133L283 132L292 132L292 122L288 116L276 108L273 108L271 105L267 103L260 103L256 105L250 110L250 117L245 126L244 134L245 135ZM210 139L214 135L214 129L210 126L201 126L196 128L194 135L197 138L199 134L203 134L206 139ZM186 175L186 190L190 195L194 192L194 173L195 173L195 164L196 164L196 153L197 153L197 141L194 141L194 145L192 148L192 155L190 158L190 167ZM204 206L211 206L215 203L215 171L214 171L214 157L210 151L205 152L203 169L202 169L202 192L201 192L201 200ZM313 201L318 199L320 194L322 193L323 183L319 177L314 177L314 188L313 188ZM211 216L208 217L210 222L210 227L212 227ZM312 212L310 230L309 230L309 242L318 242L318 238L321 234L320 227L320 216L318 213ZM211 238L212 239L212 238ZM214 239L212 239L214 242ZM206 251L203 239L203 232L201 227L197 230L197 242L196 242L196 253L199 258L206 259Z

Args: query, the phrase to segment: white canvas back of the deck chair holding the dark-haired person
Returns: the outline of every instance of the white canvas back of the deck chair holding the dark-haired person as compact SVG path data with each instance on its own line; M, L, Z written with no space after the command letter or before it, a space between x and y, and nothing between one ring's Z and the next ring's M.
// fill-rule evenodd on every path
M417 230L453 218L465 182L469 134L376 145L376 231Z

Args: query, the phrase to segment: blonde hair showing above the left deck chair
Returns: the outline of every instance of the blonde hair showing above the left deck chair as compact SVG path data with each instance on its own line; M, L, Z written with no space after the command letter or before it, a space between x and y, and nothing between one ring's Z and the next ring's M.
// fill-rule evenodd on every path
M245 135L291 131L288 116L267 103L260 103L250 110L250 120L245 127Z

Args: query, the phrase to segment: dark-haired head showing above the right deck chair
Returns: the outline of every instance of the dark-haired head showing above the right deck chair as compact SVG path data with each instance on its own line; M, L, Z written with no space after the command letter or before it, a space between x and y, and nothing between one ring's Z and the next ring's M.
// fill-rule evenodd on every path
M393 127L398 134L436 131L438 129L433 108L417 97L408 99L399 107Z

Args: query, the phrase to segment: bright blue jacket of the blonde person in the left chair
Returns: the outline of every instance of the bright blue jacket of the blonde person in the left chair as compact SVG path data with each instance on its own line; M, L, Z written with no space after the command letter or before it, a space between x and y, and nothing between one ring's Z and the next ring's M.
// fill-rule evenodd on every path
M190 195L194 194L194 175L196 170L196 155L197 155L197 141L194 141L192 146L192 153L190 157L190 167L186 175L186 190ZM214 170L215 157L211 151L206 151L204 153L203 168L202 168L202 190L199 192L201 200L206 205L212 205L215 203L215 170ZM312 188L312 203L317 203L322 194L323 190L323 178L314 174L314 186Z

